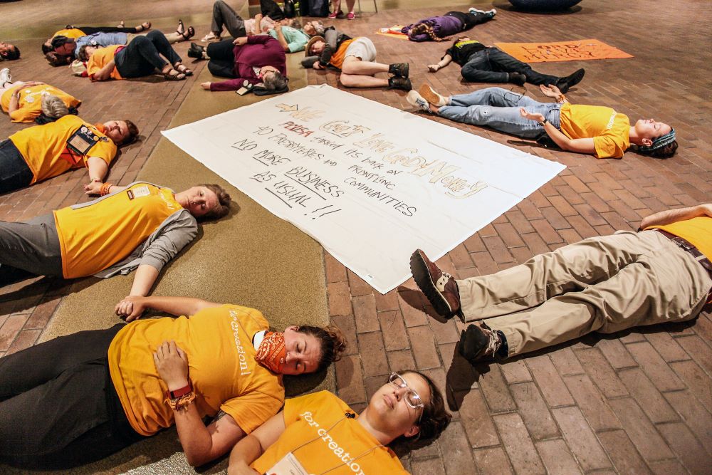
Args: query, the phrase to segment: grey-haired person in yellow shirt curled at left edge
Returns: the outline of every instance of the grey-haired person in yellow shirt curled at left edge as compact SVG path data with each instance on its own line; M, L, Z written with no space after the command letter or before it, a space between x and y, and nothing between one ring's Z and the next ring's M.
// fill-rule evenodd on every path
M0 105L12 122L46 123L76 114L82 101L41 81L12 81L9 68L0 70ZM42 117L41 117L42 116Z

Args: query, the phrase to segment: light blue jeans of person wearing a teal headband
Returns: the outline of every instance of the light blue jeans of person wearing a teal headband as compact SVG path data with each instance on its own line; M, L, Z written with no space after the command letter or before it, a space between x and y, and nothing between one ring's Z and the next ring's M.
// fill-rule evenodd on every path
M533 139L544 132L544 127L535 120L525 119L519 113L525 108L528 113L539 113L560 128L561 104L540 103L525 95L503 88L486 88L473 93L454 95L449 105L438 111L442 117L455 122L487 125L494 130Z

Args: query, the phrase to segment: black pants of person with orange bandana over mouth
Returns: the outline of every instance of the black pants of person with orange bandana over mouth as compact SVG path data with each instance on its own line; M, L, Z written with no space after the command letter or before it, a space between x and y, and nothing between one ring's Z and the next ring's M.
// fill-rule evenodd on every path
M123 326L0 358L0 460L66 468L144 438L131 428L109 376L107 351Z

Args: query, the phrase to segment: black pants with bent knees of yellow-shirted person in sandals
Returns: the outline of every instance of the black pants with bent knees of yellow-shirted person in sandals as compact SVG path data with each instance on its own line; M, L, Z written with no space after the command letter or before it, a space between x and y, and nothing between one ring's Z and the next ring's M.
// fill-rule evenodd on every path
M158 30L146 36L137 36L114 56L116 69L122 78L141 78L162 70L167 62L174 65L181 61L178 53L171 48L166 36Z

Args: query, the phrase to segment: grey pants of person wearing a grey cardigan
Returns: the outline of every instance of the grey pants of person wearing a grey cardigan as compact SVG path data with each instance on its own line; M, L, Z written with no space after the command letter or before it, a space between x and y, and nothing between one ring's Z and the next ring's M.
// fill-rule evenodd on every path
M53 214L26 223L0 221L0 269L4 276L16 269L41 276L63 275Z

